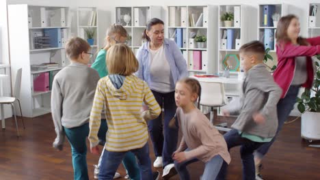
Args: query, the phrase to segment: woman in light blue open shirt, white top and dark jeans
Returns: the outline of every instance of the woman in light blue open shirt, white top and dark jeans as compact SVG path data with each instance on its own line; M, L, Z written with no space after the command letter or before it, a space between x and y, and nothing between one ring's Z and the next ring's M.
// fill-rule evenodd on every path
M137 51L139 70L136 75L148 83L158 104L164 108L164 132L162 115L148 121L148 130L157 157L153 166L163 167L162 177L169 179L176 175L172 153L178 142L178 128L169 127L176 113L174 87L178 80L188 75L187 63L176 43L164 38L162 20L152 18L146 25L144 38L147 42Z

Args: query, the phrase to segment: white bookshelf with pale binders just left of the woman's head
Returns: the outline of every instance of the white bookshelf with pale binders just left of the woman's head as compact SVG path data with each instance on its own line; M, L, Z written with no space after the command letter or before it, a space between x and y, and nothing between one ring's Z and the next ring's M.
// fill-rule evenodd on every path
M128 24L124 22L124 16L130 16ZM144 29L146 29L146 23L151 18L159 18L163 20L162 7L151 6L133 6L133 7L116 7L116 21L118 25L122 25L128 32L128 46L130 46L133 52L137 52L137 49L145 42L142 38Z

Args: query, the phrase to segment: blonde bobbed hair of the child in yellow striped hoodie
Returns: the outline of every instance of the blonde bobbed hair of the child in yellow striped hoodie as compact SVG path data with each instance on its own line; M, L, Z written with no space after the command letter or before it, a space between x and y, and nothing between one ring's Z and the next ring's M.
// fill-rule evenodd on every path
M109 74L129 76L137 72L139 63L131 48L126 44L115 44L108 50L106 57Z

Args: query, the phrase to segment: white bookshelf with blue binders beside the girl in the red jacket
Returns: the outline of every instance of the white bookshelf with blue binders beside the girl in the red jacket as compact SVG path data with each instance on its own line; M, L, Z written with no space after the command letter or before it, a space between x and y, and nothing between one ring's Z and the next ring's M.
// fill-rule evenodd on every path
M258 5L258 34L257 39L265 44L265 48L269 48L269 55L274 58L274 61L268 60L267 65L273 67L277 65L278 58L276 55L276 29L277 22L272 16L274 14L286 16L288 14L288 5L285 3L267 3ZM266 36L266 33L267 36Z

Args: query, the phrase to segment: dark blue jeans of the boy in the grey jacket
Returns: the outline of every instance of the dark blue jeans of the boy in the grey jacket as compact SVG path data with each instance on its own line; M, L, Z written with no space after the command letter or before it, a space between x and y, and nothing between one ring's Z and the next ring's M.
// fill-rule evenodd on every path
M243 180L254 180L256 179L256 169L254 166L254 150L258 149L265 142L254 142L247 138L242 138L238 130L232 129L230 132L224 134L224 139L226 140L228 151L232 147L240 147L240 156L242 161L242 179ZM226 179L228 164L224 162L222 168L219 172L217 179Z

